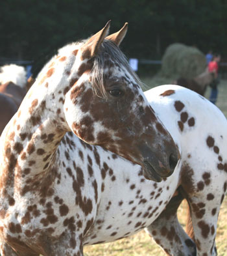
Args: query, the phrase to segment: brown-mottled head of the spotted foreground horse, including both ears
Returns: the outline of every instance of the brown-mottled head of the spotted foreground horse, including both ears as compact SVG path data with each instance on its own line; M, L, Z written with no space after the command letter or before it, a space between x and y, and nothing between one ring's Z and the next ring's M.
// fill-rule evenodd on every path
M64 102L67 124L86 143L141 165L146 178L161 181L173 173L178 149L119 50L127 23L107 36L109 27L110 21L74 51L77 76Z

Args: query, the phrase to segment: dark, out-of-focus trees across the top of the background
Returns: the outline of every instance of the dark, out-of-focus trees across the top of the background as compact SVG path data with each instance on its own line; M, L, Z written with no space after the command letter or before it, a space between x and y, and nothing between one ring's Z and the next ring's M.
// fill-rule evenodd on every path
M47 59L68 42L87 38L112 20L128 21L121 48L128 57L160 59L173 42L227 55L226 0L3 0L0 57Z

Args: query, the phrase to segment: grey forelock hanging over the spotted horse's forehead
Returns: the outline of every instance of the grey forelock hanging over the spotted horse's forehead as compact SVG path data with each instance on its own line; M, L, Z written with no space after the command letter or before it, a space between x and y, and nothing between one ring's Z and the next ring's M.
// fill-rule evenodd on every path
M93 59L93 68L91 70L91 85L97 96L107 98L104 85L107 79L106 76L108 76L110 73L106 71L110 69L112 65L124 67L130 76L132 76L132 78L136 81L136 83L143 87L143 83L128 64L128 60L126 59L124 53L119 49L118 46L114 44L114 42L104 40L98 55Z

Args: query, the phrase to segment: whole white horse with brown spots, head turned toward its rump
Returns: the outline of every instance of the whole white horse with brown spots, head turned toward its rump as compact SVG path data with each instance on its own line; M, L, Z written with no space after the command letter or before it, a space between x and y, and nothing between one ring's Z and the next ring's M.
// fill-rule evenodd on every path
M227 187L226 119L195 92L165 85L145 93L161 125L109 41L119 44L125 27L104 42L102 33L63 48L5 129L1 255L82 255L86 244L145 227L168 255L217 255L217 216ZM147 129L141 133L141 127ZM168 178L177 152L164 127L181 153ZM139 155L143 169L104 148L141 164ZM176 216L184 198L193 227L187 233Z

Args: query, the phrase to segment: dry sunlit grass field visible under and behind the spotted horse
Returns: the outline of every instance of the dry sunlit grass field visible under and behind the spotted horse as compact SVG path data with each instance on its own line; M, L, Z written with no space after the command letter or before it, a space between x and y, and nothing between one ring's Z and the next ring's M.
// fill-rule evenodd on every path
M143 79L143 82L148 87L153 87L154 83L150 79ZM206 91L206 98L209 98L210 89ZM227 117L227 80L222 80L219 85L219 96L217 106L222 110ZM179 208L178 217L182 226L185 225L185 203ZM217 251L219 256L227 256L227 196L225 197L221 212L219 214L219 222L216 237ZM87 246L84 248L85 256L164 256L166 255L150 239L145 231L141 231L130 238L125 238L117 242L109 244L99 244L95 246Z

